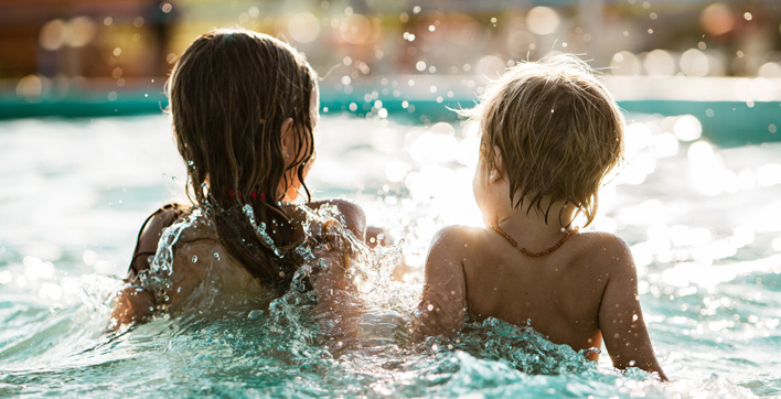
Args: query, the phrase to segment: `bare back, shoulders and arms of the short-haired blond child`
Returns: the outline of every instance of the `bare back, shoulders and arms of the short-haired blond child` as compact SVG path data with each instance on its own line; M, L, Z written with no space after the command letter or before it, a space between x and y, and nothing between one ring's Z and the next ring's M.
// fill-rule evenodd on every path
M642 320L631 254L614 235L575 234L558 250L532 258L491 229L450 226L434 239L426 274L426 281L440 283L428 284L421 300L424 334L460 327L469 311L477 320L529 325L576 351L599 348L606 335L617 367L661 370Z

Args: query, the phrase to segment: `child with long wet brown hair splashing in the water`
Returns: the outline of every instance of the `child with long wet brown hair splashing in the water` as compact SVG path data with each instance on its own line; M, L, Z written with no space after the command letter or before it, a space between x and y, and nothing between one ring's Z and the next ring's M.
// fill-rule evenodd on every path
M345 201L290 205L301 187L309 195L314 71L268 35L217 30L182 54L167 89L194 205L167 205L145 223L129 287L115 299L115 326L159 311L261 306L313 258L333 267L314 265L300 288L314 289L319 306L339 313L340 295L353 289L342 226L363 240L364 214ZM339 222L311 211L319 208Z

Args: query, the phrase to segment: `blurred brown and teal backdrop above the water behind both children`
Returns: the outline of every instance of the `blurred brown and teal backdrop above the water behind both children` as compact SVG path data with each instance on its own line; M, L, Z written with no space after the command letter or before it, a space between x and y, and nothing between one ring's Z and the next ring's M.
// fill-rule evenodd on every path
M0 118L159 112L179 54L225 26L306 53L325 112L454 119L509 65L570 52L628 111L781 136L778 1L0 0Z

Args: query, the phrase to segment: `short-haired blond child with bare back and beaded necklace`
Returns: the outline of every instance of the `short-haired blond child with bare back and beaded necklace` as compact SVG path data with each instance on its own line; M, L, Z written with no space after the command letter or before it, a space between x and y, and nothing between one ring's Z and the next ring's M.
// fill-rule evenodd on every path
M659 373L627 244L578 233L620 161L623 120L574 56L511 68L467 111L480 122L474 198L486 228L449 226L431 242L418 335L460 328L469 312L529 325L597 360L602 339L618 368ZM597 348L595 351L595 348Z

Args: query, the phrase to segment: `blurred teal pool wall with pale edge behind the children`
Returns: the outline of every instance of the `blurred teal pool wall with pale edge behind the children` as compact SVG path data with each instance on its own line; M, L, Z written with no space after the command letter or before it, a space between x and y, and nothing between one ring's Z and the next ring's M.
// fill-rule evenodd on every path
M396 76L347 87L321 84L321 112L393 118L397 121L407 120L410 125L456 121L460 117L453 109L470 108L475 104L480 87L484 84L477 80L468 76ZM660 96L652 89L664 87L664 83L631 80L632 86L639 88L636 90L627 89L625 83L629 80L625 79L608 79L607 84L612 91L618 93L619 105L628 114L659 114L665 117L693 115L702 123L703 137L720 147L781 141L781 132L778 131L781 129L781 101L737 99L743 96L730 95L734 91L730 88L738 80L747 79L720 78L705 82L710 93L704 93L703 82L696 82L697 87L689 84L693 80L687 79L668 82L681 88L665 90L666 96ZM691 87L687 88L687 85ZM775 86L779 85L771 85L772 91L780 91ZM167 106L168 99L160 85L125 90L71 88L56 93L52 90L38 97L23 97L11 90L0 90L0 119L158 114Z

